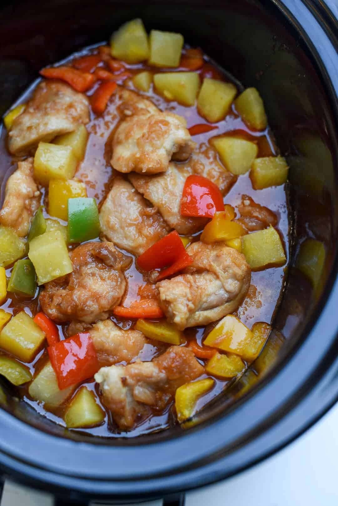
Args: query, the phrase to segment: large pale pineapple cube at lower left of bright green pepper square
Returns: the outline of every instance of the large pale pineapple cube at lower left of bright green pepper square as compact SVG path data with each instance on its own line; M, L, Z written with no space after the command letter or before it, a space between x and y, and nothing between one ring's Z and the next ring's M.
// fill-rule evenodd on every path
M65 240L59 231L45 232L35 237L29 243L28 257L35 267L39 285L73 270Z

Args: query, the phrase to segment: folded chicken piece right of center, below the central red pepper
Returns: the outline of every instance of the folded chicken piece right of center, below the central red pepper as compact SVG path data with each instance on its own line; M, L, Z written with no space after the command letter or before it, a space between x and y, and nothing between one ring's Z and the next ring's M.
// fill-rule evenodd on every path
M244 255L223 243L194 242L186 251L193 257L192 265L156 285L167 319L180 329L207 325L234 312L251 278Z

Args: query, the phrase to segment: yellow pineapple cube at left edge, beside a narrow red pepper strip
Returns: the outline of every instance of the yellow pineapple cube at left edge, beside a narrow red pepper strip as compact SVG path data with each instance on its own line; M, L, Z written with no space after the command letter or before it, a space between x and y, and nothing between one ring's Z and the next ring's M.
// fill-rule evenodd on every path
M24 311L13 316L0 333L0 348L23 362L31 362L45 339L45 334Z

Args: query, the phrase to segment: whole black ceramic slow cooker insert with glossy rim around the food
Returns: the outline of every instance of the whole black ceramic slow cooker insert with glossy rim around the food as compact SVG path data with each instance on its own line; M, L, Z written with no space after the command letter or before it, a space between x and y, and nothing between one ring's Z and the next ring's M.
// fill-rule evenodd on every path
M2 4L0 112L39 70L140 17L178 31L264 99L290 165L290 258L264 376L245 379L179 427L134 439L69 433L23 403L0 409L0 473L67 500L122 503L229 477L304 432L338 397L338 8L315 0ZM4 174L0 173L0 182ZM301 243L325 246L317 289L299 276ZM243 393L245 390L245 393ZM1 495L1 494L0 494Z

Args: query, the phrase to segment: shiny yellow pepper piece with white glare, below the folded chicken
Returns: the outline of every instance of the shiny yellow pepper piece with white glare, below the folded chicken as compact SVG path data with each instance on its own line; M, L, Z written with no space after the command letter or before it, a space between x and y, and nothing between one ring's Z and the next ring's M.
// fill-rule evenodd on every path
M253 334L244 323L234 315L227 315L211 330L203 344L248 360L251 355L246 353L246 348L252 339Z

